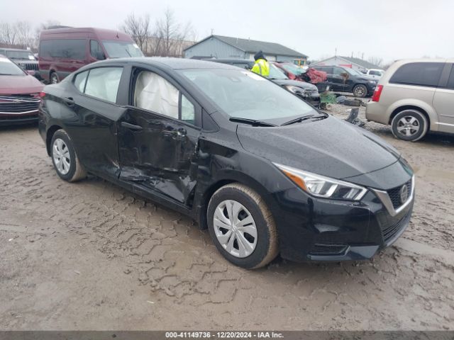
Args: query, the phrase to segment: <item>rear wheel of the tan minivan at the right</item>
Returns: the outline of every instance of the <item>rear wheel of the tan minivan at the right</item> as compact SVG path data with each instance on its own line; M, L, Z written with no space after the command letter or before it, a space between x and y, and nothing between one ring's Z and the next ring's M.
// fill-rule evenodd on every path
M408 128L405 128L406 126ZM403 128L404 130L402 130ZM426 135L428 130L428 120L426 115L424 115L421 111L415 109L403 110L397 113L397 115L394 115L394 118L392 118L391 130L394 137L399 138L399 140L416 142L417 140L421 140L421 138ZM409 135L407 135L407 133L409 133Z

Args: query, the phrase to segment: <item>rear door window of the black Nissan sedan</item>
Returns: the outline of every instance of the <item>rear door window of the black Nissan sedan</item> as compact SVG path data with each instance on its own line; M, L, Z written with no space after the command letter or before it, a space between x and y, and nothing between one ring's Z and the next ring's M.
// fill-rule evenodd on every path
M90 69L84 93L115 103L122 73L123 67Z

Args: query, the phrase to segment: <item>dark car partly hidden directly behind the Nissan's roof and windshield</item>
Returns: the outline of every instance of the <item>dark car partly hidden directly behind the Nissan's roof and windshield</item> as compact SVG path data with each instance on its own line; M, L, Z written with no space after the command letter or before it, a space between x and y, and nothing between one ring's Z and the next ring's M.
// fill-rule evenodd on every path
M254 66L253 60L248 59L209 59L210 62L221 62L223 64L230 64L242 69L252 69ZM294 94L301 96L306 102L314 106L320 105L320 94L317 86L314 84L295 81L289 79L274 63L270 63L270 76L271 81L283 86L285 89L292 91Z

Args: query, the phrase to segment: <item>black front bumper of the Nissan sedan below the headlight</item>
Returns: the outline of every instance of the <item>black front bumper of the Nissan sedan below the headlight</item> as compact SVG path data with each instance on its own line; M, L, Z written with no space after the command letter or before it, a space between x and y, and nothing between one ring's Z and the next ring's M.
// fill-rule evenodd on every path
M292 261L370 259L393 244L409 225L414 189L404 208L389 211L370 190L361 202L326 200L299 188L274 194L279 202L280 251Z

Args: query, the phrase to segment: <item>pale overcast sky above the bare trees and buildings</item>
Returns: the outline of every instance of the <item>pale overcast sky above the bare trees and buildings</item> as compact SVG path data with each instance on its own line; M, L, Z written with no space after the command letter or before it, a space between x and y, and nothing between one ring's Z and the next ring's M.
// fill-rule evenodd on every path
M384 62L404 57L454 57L451 0L0 0L0 21L57 20L66 26L118 28L128 13L165 8L197 38L214 34L279 42L312 60L334 55Z

